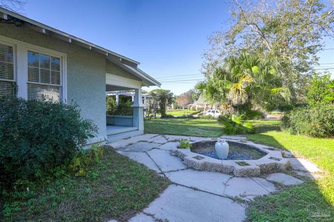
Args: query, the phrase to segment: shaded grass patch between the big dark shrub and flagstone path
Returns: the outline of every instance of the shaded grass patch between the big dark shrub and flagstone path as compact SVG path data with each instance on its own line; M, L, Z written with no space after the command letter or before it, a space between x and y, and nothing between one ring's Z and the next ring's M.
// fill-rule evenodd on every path
M0 201L0 221L127 221L168 184L154 171L106 148L85 177L63 176L30 189L26 198L11 193Z

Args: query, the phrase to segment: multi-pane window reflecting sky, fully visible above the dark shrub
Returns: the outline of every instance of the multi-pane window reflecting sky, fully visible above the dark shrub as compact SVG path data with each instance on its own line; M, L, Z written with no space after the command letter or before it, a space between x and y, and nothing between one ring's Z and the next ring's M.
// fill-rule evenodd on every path
M28 100L61 97L61 58L28 51Z

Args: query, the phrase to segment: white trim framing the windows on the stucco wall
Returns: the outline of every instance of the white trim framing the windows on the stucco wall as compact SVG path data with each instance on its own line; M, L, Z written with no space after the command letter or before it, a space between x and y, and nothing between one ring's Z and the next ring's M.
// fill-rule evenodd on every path
M28 81L28 51L35 51L49 56L61 58L61 100L67 102L67 54L27 42L14 40L0 35L0 44L13 47L14 54L14 76L18 86L17 96L28 99L28 83L39 84ZM46 84L52 86L53 84ZM58 85L54 85L58 86Z

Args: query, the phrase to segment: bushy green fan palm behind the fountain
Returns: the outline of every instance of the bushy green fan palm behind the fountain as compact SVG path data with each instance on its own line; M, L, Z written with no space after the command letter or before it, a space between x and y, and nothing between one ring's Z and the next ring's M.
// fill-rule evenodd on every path
M277 70L273 61L255 55L228 56L212 77L196 87L208 102L230 104L238 111L254 106L273 109L289 100L289 90Z

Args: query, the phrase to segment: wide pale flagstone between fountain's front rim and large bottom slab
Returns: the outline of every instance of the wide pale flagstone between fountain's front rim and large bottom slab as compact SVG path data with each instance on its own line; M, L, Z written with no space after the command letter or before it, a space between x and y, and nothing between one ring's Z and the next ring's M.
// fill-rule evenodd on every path
M231 175L223 173L193 171L191 169L165 174L169 180L177 184L182 184L186 187L193 187L218 195L224 194L225 183L228 182L230 177L232 177Z

